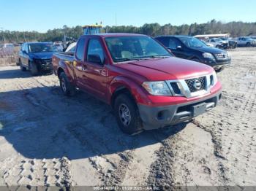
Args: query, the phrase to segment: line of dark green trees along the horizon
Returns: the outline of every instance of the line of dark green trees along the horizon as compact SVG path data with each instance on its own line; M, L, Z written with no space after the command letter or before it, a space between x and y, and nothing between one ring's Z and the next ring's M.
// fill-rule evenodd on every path
M165 24L160 26L159 23L146 23L143 26L105 26L102 32L108 33L135 33L146 34L149 36L158 35L190 35L197 34L222 34L229 33L230 36L248 36L256 34L256 22L230 22L222 23L221 21L211 20L208 23L193 23L190 25L183 24L181 26L173 26ZM82 26L63 28L54 28L48 30L46 33L39 33L37 31L1 31L0 42L55 42L61 41L64 36L69 36L78 39L83 34Z

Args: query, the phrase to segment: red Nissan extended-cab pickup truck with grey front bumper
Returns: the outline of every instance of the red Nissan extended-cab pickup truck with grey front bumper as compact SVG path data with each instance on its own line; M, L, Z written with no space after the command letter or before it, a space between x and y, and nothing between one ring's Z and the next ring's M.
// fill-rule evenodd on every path
M53 54L53 71L64 95L79 88L110 104L129 134L191 120L222 93L210 66L175 58L140 34L81 36L75 53Z

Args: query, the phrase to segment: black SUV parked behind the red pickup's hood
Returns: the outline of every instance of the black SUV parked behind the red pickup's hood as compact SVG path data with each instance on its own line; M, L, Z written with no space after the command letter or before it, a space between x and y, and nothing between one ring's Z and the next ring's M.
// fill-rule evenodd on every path
M176 57L205 63L216 71L222 71L231 62L230 55L225 50L208 47L192 36L157 36L155 39Z

